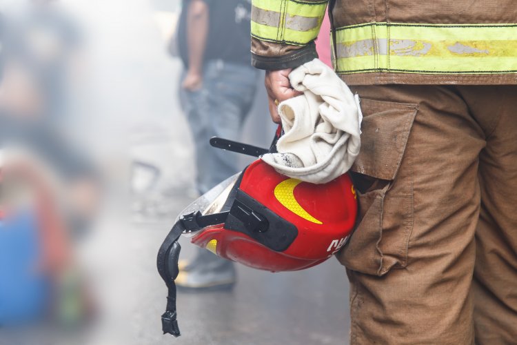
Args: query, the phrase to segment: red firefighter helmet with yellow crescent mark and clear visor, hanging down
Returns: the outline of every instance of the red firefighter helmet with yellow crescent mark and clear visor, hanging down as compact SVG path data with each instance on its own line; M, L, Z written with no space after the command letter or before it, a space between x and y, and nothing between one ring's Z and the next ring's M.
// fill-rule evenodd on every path
M192 243L261 270L321 264L345 244L356 219L356 192L347 174L310 184L259 159L211 192L203 213L182 219L187 231L194 230Z

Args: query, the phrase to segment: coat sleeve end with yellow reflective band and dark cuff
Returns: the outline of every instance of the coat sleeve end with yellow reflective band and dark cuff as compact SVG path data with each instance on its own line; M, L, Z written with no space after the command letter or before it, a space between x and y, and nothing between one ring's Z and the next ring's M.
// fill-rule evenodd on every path
M252 0L252 65L293 68L311 61L328 0Z

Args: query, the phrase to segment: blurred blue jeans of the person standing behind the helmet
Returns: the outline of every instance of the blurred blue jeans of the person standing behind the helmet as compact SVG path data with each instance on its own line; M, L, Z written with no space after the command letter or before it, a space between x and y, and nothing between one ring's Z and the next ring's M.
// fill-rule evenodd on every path
M211 137L241 140L247 113L256 93L259 71L251 66L212 60L205 63L203 86L181 90L196 154L196 188L202 195L239 172L239 155L212 148ZM182 78L183 79L183 78Z

